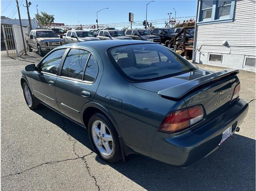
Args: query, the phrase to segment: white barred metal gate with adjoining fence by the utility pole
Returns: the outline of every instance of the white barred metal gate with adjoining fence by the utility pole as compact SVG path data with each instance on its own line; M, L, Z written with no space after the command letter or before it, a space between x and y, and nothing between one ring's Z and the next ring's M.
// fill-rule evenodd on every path
M23 36L25 38L26 33L28 32L28 28L22 26L22 30ZM2 24L2 31L8 57L19 56L22 52L25 51L19 25Z

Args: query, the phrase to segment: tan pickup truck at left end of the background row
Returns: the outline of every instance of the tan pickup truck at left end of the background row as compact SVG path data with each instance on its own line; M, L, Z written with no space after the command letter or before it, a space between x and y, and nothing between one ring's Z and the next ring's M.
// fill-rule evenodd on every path
M52 49L64 44L64 40L52 30L31 30L30 35L26 36L28 51L38 51L40 56L50 52Z

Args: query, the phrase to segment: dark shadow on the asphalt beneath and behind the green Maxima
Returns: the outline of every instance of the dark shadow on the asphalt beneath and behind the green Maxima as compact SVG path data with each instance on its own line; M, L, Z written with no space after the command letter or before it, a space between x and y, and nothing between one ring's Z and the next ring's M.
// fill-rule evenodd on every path
M36 113L92 149L86 129L41 106ZM138 155L109 165L146 190L255 190L255 140L234 134L208 157L187 169ZM118 185L115 185L118 187Z

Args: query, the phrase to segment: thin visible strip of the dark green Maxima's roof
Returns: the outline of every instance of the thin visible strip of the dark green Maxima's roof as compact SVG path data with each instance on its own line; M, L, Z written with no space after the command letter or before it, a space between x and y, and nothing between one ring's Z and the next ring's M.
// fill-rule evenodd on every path
M72 47L80 47L85 48L86 46L92 46L96 49L103 48L108 49L114 46L123 46L129 44L148 44L153 43L150 41L144 40L95 40L95 41L88 41L88 42L79 42L79 43L72 43L72 44L65 44L63 46L58 46L58 48L72 48ZM153 43L155 44L155 43Z

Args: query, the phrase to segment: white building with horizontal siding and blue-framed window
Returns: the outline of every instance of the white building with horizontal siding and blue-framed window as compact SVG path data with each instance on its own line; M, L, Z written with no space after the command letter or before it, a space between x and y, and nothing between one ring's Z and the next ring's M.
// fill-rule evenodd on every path
M255 0L198 0L194 63L255 71Z

